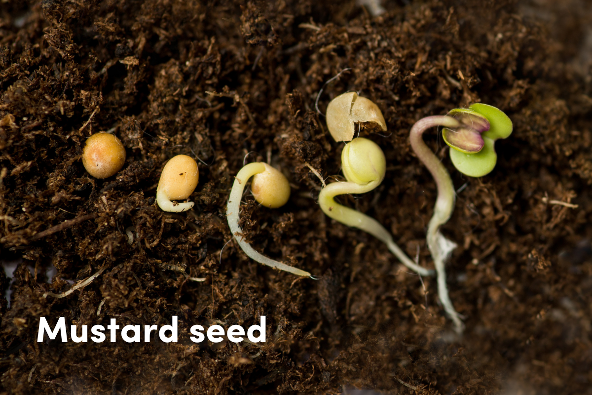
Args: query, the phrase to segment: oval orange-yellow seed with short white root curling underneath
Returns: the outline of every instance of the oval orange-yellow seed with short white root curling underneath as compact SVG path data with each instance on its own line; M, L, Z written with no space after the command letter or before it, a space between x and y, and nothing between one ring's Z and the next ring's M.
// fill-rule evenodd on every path
M191 156L177 155L166 162L156 188L156 203L163 211L181 213L193 207L193 202L177 203L186 200L195 191L200 179L197 162Z

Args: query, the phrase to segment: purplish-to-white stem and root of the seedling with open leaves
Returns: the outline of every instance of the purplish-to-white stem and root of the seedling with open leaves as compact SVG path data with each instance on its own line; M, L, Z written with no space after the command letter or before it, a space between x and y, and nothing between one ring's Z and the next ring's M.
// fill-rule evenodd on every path
M455 202L455 190L452 184L452 179L448 174L446 168L442 165L440 160L434 155L426 143L423 142L423 132L430 127L443 126L449 128L459 127L459 122L452 117L446 115L434 115L426 117L417 121L411 128L410 140L411 147L415 151L417 158L419 158L426 168L432 173L436 181L438 190L438 197L434 207L434 214L427 225L427 248L432 253L434 266L437 272L438 297L442 302L442 306L446 313L451 317L452 322L456 327L456 332L461 333L464 325L456 313L452 301L448 296L448 286L446 285L446 269L445 262L449 258L456 244L451 240L446 239L440 233L440 226L448 222L452 216Z

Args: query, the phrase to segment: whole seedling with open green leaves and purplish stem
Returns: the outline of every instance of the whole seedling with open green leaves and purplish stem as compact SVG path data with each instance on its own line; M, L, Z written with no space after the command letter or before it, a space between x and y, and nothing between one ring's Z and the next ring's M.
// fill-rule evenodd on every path
M422 160L436 181L438 196L434 214L427 225L427 248L437 272L438 296L446 313L451 317L457 332L463 324L454 310L446 286L445 262L456 244L446 239L440 226L452 216L455 190L452 179L440 160L423 142L423 132L430 127L443 126L443 138L451 146L453 165L468 176L483 176L496 166L494 143L505 139L512 132L512 123L502 111L487 104L473 104L468 109L457 108L449 115L433 115L417 121L410 132L411 147Z

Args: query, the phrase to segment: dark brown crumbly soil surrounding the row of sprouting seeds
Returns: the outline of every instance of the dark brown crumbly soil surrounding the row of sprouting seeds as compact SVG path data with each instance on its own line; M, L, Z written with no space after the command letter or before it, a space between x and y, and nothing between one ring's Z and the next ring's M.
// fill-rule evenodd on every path
M592 394L590 5L385 8L374 17L354 1L2 2L0 257L20 263L0 271L11 291L0 298L0 391ZM346 68L317 112L324 82ZM321 184L307 165L340 173L343 144L322 113L347 91L381 108L387 134L361 136L388 167L379 188L340 200L427 267L436 187L410 149L411 126L477 101L513 120L496 169L479 179L455 171L436 130L425 137L459 188L443 233L458 243L447 270L462 336L435 279L408 273L316 204ZM98 131L127 150L112 178L82 166ZM164 213L156 185L181 153L200 161L195 207ZM320 280L260 265L229 242L226 203L244 160L271 161L292 187L275 210L245 195L247 239ZM101 270L67 297L44 297ZM41 316L123 327L175 315L178 343L37 343ZM266 343L188 339L194 324L250 326L261 315Z

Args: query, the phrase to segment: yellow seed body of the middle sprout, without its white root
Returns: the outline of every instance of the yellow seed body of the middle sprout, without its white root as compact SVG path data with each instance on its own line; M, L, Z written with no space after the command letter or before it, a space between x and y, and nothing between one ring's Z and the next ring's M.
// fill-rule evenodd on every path
M290 197L288 179L278 169L265 165L265 171L253 176L251 190L255 200L269 208L286 204Z

